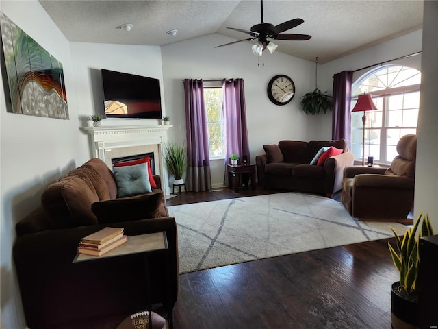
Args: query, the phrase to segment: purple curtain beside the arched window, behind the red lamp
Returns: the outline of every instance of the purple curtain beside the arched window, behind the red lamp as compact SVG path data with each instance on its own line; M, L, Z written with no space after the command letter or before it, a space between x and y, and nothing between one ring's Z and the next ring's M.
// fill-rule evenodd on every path
M345 138L350 147L351 134L351 84L352 71L333 75L332 139Z

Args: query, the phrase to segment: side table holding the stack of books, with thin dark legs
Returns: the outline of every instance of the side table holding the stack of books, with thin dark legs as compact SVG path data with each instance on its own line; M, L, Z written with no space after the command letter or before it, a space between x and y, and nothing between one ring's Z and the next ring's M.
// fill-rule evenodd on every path
M73 259L73 263L86 262L86 261L101 261L101 262L109 262L111 259L116 257L124 257L130 256L133 254L138 254L143 258L144 261L144 278L146 280L146 295L147 297L147 310L149 313L149 324L152 324L152 303L149 297L149 293L151 292L151 282L149 280L149 262L148 256L151 253L162 252L164 253L165 263L166 263L166 298L165 304L167 304L168 308L170 308L170 274L169 274L169 258L168 258L168 244L167 244L167 236L166 232L156 232L150 234L142 234L135 236L128 236L127 242L123 243L110 252L103 254L102 256L90 256L85 254L77 254L75 259ZM168 309L169 315L169 328L173 328L173 319L172 319L172 309Z

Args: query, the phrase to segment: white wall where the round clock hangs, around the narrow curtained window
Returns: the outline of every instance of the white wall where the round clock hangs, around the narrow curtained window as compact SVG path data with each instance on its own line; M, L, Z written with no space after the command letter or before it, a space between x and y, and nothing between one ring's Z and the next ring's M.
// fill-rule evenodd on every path
M211 34L162 47L166 109L176 129L170 138L185 140L185 108L183 79L221 80L242 77L245 83L246 118L250 141L250 162L262 154L263 144L276 144L282 139L307 141L318 136L318 117L307 116L300 110L300 97L313 90L314 64L279 51L264 55L265 66L257 66L249 42L214 48L234 39ZM269 80L285 74L294 80L296 95L285 106L276 106L266 94ZM329 136L330 137L330 136ZM315 138L316 139L316 138ZM222 185L223 161L212 161L213 185ZM217 169L217 170L216 170Z

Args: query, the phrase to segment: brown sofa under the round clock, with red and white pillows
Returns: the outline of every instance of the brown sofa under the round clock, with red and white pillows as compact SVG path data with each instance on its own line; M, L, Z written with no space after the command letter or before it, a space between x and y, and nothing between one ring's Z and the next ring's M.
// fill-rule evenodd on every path
M342 149L342 154L330 156L322 165L310 164L322 147ZM280 141L263 145L266 154L256 156L259 186L289 191L319 193L331 197L341 189L342 172L352 166L354 155L346 141Z

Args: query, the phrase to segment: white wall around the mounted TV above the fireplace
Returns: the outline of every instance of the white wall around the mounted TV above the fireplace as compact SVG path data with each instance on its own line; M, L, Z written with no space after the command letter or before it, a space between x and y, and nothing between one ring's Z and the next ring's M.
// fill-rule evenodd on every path
M83 42L70 43L73 58L73 78L77 84L78 114L80 125L87 125L90 114L104 115L103 89L100 69L142 75L159 79L162 86L162 109L166 114L164 104L165 90L162 83L161 48L158 46L107 45ZM149 119L103 119L102 125L158 125L159 120ZM78 130L79 132L79 130ZM88 134L81 131L81 147L88 153L85 162L94 156L90 154Z

